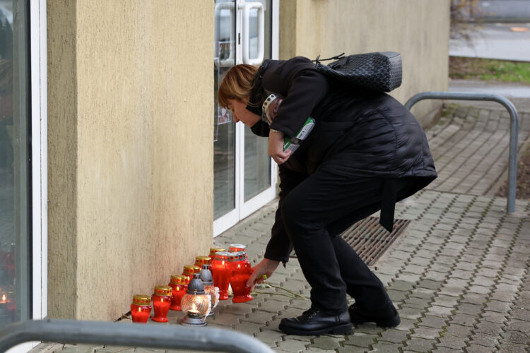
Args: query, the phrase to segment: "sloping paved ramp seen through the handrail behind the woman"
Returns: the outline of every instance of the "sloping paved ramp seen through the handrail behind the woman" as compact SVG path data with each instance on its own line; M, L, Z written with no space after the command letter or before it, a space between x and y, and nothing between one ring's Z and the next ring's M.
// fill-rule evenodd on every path
M520 150L530 141L530 107L515 104ZM510 114L500 104L448 104L427 137L439 175L428 189L493 196L507 179Z

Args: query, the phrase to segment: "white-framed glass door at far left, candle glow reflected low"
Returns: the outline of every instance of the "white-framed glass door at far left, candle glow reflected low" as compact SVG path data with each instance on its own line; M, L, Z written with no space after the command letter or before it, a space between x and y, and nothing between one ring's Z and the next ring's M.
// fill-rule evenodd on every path
M45 0L0 0L0 329L47 315L46 35Z

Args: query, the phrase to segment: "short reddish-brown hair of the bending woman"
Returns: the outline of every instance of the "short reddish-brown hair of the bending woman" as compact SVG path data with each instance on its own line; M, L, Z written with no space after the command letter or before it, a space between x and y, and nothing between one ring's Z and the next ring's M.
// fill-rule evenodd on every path
M232 66L219 85L217 101L221 107L228 106L228 100L242 100L250 95L258 68L248 64Z

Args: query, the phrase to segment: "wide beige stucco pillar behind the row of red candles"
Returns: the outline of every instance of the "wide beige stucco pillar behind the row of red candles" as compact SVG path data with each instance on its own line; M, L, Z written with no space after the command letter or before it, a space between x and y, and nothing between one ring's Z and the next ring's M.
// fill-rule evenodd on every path
M111 320L212 243L213 6L47 4L49 316Z

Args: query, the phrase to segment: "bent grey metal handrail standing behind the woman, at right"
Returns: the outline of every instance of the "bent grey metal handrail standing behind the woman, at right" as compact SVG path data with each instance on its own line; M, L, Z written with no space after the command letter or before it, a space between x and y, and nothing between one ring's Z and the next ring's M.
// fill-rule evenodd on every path
M517 185L517 134L519 132L519 118L514 104L502 95L471 92L421 92L413 95L405 103L405 107L411 110L412 106L420 100L481 100L492 101L502 104L510 113L510 156L508 157L508 199L507 213L515 212L515 188Z

